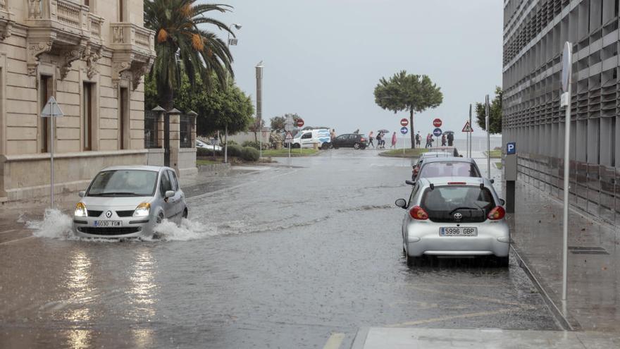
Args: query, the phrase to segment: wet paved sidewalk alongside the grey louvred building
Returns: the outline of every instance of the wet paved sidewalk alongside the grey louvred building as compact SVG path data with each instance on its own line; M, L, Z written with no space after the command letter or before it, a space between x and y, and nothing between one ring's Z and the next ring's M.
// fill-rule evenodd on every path
M620 333L620 233L569 211L568 291L562 304L562 202L517 181L513 247L574 329ZM543 295L544 295L543 293Z

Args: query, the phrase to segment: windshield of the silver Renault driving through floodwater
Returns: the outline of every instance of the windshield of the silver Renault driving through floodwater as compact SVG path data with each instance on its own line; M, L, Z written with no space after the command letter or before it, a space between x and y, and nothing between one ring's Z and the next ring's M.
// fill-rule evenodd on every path
M142 170L101 171L92 180L87 196L153 196L157 172Z

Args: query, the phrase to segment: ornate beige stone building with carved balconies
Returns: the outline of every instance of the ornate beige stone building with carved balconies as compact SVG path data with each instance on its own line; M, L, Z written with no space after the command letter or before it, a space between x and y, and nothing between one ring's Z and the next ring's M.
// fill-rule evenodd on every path
M155 58L142 0L0 0L0 201L82 190L147 164L142 76ZM64 116L40 117L55 97Z

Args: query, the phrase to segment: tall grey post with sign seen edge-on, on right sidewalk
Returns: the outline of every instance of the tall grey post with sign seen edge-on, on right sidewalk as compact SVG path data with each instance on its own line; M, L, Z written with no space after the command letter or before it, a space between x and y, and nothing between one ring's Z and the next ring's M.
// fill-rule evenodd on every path
M562 301L566 301L566 274L568 272L568 250L569 250L569 171L570 171L570 141L571 141L571 75L573 53L572 44L566 42L562 52L562 102L561 106L566 107L564 117L564 217L562 217L562 236L564 244L562 247Z

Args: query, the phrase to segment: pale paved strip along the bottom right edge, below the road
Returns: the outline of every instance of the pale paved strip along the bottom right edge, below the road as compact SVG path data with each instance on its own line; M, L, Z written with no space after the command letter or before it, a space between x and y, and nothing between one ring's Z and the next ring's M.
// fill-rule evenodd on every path
M352 349L612 349L620 348L616 333L505 331L500 329L360 329Z

